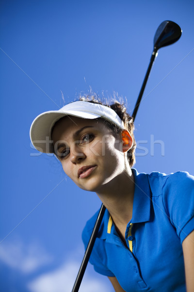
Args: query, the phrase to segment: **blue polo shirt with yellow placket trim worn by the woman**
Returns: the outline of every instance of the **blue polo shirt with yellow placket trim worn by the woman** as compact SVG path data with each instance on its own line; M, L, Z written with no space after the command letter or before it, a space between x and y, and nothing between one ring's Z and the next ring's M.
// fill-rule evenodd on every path
M108 210L90 256L94 269L115 276L126 292L186 292L182 241L194 230L194 177L187 172L138 173L126 244ZM98 212L82 233L88 244Z

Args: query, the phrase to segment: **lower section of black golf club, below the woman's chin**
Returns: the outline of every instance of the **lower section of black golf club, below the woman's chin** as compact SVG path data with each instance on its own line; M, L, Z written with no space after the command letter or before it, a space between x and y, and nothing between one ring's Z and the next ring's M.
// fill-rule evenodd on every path
M74 283L74 286L73 286L73 289L71 292L78 292L80 289L81 281L82 281L83 275L85 273L85 269L87 267L87 264L88 264L88 261L89 261L89 258L90 258L90 255L91 255L91 252L92 252L92 249L93 249L96 237L97 237L97 232L98 232L100 224L102 222L102 218L104 216L105 210L106 210L106 207L102 204L100 211L98 213L98 216L97 216L97 220L96 220L94 229L92 231L92 235L91 235L90 240L88 242L88 246L86 248L85 255L83 257L80 270L78 272L77 278L75 280L75 283Z

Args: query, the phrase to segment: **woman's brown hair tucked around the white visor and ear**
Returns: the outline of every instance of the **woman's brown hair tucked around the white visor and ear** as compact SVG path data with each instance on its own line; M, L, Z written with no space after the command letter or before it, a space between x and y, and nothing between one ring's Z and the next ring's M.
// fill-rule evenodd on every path
M130 132L131 137L133 138L133 146L127 152L129 165L130 165L130 167L132 167L135 164L135 148L136 148L136 142L135 142L134 133L133 133L134 124L132 121L132 117L126 111L126 107L124 106L124 104L123 103L121 104L118 101L115 101L112 105L108 105L107 103L106 104L102 103L102 101L97 98L96 94L95 95L80 96L79 100L106 106L108 108L111 108L112 110L114 110L117 113L117 115L123 121L125 128ZM100 119L103 120L102 118L100 118ZM103 120L103 121L105 122L105 124L109 128L111 128L113 130L113 132L115 134L118 134L121 132L121 129L118 128L116 125L114 125L106 120Z

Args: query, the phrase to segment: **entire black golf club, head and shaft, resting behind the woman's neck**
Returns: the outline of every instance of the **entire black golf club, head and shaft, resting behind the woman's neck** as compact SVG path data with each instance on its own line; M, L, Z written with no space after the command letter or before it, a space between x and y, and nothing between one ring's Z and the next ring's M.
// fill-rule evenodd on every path
M158 27L158 29L155 33L155 36L154 36L154 49L153 49L153 52L151 55L150 63L149 63L149 66L148 66L148 69L146 72L146 76L144 78L144 82L142 84L142 88L140 90L140 93L139 93L139 96L137 99L137 102L135 104L135 108L134 108L133 113L132 113L133 122L135 120L137 110L139 108L139 105L140 105L140 102L142 99L142 95L143 95L145 87L146 87L146 82L147 82L151 67L153 65L153 62L154 62L156 56L158 55L157 54L158 50L162 47L171 45L174 42L176 42L180 38L181 34L182 34L182 31L181 31L181 28L178 26L178 24L173 22L173 21L170 21L170 20L163 21L160 24L160 26ZM79 270L77 278L75 280L72 292L79 291L81 281L82 281L83 275L85 273L85 269L86 269L86 266L88 264L89 257L91 255L91 252L92 252L92 249L93 249L93 246L95 243L95 239L97 237L97 232L99 230L99 227L100 227L102 218L104 216L105 210L106 210L106 207L102 204L100 211L99 211L99 214L98 214L98 217L97 217L97 220L96 220L96 223L95 223L95 226L94 226L94 229L93 229L93 232L92 232L92 235L90 237L88 246L86 248L85 255L83 257L80 270Z

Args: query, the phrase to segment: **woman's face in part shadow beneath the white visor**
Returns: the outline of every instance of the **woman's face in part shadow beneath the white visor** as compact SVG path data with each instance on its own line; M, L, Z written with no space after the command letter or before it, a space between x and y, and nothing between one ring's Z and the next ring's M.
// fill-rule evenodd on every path
M103 191L125 169L122 140L101 121L66 116L52 140L65 173L84 190Z

